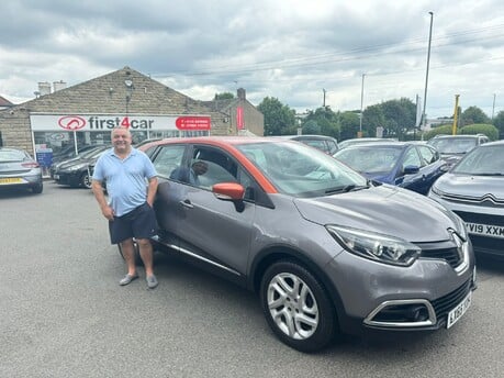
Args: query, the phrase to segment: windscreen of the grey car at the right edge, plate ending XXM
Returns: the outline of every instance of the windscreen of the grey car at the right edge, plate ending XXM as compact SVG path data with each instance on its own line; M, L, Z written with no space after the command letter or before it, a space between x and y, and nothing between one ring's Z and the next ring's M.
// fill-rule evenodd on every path
M504 176L504 144L471 151L452 169L452 174Z

